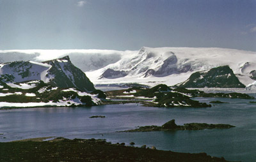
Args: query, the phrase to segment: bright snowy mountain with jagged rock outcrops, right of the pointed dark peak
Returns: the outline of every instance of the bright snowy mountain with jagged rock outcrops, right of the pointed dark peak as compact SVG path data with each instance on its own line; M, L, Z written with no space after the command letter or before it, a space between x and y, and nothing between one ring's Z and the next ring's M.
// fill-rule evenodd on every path
M138 82L147 85L156 85L159 83L175 85L184 82L195 71L210 70L217 66L228 65L239 78L240 82L248 85L253 82L250 78L250 71L256 69L255 64L256 52L243 50L226 48L143 47L138 52L124 55L116 63L109 64L100 70L86 72L86 75L95 84ZM127 75L122 78L99 79L102 73L108 69L127 71Z

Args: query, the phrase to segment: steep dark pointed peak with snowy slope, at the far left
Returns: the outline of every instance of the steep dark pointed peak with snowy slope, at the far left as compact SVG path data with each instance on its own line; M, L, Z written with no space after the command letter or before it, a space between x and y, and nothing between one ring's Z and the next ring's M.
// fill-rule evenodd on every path
M42 80L52 86L76 87L81 91L94 91L95 88L83 71L71 63L68 56L52 61L37 63L33 61L15 61L0 66L2 82L26 82Z

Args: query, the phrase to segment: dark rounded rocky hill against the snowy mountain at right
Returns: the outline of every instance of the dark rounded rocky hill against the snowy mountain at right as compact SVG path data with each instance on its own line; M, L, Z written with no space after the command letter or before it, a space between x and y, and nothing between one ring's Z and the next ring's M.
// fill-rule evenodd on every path
M219 66L209 71L198 71L193 73L188 80L177 84L178 87L186 88L244 88L229 66Z

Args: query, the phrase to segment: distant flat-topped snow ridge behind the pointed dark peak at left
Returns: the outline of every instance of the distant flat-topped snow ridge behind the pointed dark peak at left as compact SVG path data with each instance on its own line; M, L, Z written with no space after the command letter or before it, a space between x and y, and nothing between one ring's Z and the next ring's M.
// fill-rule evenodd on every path
M68 55L72 63L83 71L92 71L116 63L122 55L132 51L118 50L0 50L0 63L13 61L42 62Z

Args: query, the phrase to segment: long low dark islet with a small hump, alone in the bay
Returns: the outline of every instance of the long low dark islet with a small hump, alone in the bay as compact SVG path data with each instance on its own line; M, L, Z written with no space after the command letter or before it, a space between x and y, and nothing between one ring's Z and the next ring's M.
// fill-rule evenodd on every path
M168 121L163 126L141 126L140 128L119 131L119 132L142 132L142 131L177 131L177 130L202 130L202 129L229 129L235 126L229 124L206 124L206 123L188 123L184 126L177 126L175 120Z

